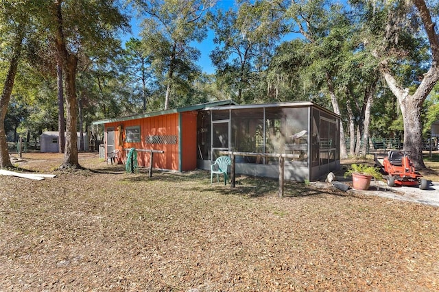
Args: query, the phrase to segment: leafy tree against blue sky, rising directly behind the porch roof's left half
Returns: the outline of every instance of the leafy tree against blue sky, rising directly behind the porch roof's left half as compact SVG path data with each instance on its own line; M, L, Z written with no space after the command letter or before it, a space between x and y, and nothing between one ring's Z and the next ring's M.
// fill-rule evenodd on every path
M286 32L282 1L243 1L238 10L211 14L219 88L238 103L267 101L266 70L276 43Z

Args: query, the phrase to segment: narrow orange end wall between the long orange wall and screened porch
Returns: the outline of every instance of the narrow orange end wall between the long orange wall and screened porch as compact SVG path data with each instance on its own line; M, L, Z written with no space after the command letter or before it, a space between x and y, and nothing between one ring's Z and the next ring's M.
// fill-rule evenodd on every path
M197 112L182 112L182 170L197 168Z

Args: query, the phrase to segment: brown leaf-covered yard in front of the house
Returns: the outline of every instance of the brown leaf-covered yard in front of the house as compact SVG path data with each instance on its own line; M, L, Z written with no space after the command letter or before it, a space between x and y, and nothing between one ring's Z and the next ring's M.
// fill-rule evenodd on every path
M58 154L0 176L0 291L438 291L439 208Z

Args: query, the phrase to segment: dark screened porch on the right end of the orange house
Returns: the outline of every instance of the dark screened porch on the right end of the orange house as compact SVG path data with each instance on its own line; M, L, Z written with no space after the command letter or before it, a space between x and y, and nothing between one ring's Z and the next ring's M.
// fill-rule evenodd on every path
M278 177L278 158L291 154L285 179L317 180L340 168L340 118L311 102L207 108L198 114L198 167L209 169L224 151L236 157L236 173Z

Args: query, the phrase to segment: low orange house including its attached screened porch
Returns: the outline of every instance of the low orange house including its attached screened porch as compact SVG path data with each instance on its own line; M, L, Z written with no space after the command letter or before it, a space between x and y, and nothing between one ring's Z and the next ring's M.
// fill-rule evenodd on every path
M311 101L238 105L214 101L173 110L94 121L104 125L106 154L119 149L119 162L131 148L160 150L153 167L174 171L210 169L221 151L292 154L285 179L316 180L340 169L340 117ZM138 152L141 167L150 154ZM274 157L242 157L236 173L278 178Z

